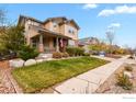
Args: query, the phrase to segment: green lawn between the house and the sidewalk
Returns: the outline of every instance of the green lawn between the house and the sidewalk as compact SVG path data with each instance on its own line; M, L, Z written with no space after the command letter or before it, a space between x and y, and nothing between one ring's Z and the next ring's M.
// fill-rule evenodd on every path
M92 57L50 60L14 69L12 75L24 92L35 92L106 63L105 60Z

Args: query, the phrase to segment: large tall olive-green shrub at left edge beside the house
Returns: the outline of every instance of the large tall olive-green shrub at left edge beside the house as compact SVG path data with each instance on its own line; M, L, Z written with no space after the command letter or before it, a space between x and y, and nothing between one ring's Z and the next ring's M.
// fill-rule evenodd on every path
M2 31L1 31L2 30ZM24 27L23 26L7 26L0 29L0 49L12 50L19 53L21 47L24 45ZM0 50L0 52L1 52Z

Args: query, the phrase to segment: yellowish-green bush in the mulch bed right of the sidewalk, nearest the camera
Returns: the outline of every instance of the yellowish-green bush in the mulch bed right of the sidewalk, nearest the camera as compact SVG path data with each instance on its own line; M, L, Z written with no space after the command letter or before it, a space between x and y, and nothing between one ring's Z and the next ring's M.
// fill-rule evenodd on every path
M125 90L133 89L133 83L131 82L129 78L125 76L123 72L117 75L117 84L121 86Z

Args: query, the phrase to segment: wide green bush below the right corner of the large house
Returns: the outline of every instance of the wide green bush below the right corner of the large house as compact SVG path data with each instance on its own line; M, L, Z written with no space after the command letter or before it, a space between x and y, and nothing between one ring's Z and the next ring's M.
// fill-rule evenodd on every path
M81 47L67 47L66 52L69 54L69 56L82 56L84 49Z

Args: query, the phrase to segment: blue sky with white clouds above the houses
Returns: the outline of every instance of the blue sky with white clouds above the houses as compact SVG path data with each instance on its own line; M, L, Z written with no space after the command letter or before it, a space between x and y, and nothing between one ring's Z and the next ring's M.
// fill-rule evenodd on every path
M52 16L73 19L81 27L79 38L95 36L105 39L109 27L115 30L115 44L136 46L136 4L0 4L9 21L20 14L41 21Z

